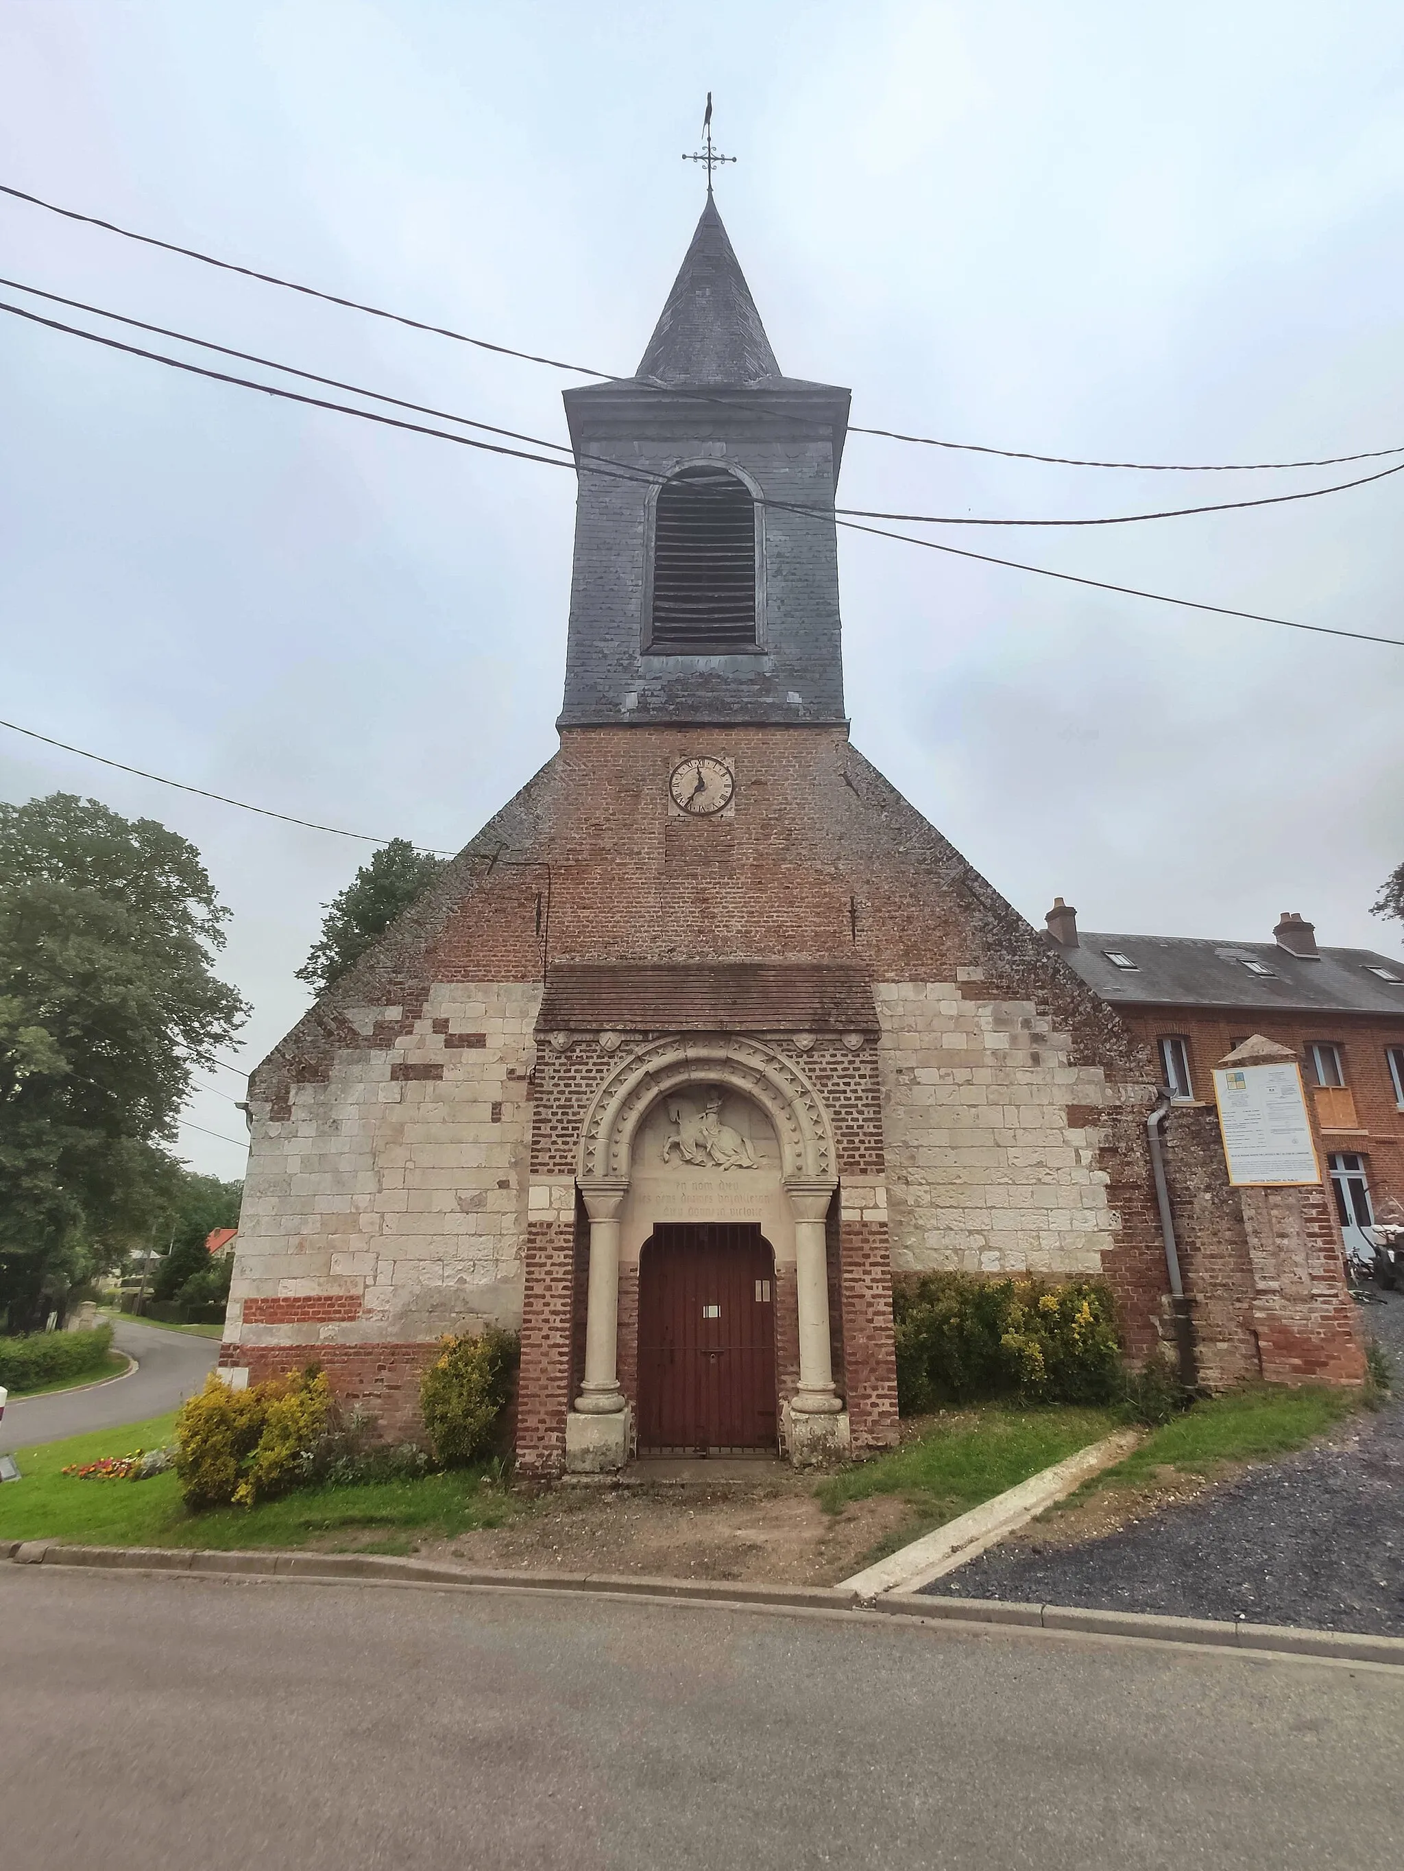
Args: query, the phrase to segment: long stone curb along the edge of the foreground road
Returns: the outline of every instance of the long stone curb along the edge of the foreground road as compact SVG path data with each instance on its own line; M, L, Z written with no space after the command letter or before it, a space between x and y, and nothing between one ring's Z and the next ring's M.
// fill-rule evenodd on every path
M886 1592L860 1598L841 1585L740 1585L729 1579L619 1577L602 1572L490 1572L477 1566L393 1559L374 1553L219 1553L200 1547L60 1545L52 1540L0 1540L0 1559L19 1566L86 1566L105 1572L176 1572L198 1577L305 1579L329 1585L424 1585L458 1590L591 1592L776 1611L851 1611L916 1624L991 1630L1043 1630L1084 1637L1135 1637L1256 1656L1320 1658L1404 1669L1404 1637L1322 1632L1288 1624L1225 1624L1144 1611L1084 1611L1075 1605L1019 1605L993 1598L925 1598Z

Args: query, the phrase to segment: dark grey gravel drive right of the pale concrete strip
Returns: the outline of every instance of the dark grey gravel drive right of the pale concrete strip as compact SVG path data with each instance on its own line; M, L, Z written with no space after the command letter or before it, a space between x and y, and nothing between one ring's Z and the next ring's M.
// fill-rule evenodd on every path
M1393 1360L1395 1401L1329 1446L1081 1547L995 1547L927 1590L1404 1637L1404 1293L1363 1317Z

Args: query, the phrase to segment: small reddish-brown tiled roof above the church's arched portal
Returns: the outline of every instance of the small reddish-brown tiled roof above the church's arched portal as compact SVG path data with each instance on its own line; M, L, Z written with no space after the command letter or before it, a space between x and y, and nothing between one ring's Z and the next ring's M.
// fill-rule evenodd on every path
M862 969L772 962L563 964L546 982L540 1033L877 1033Z

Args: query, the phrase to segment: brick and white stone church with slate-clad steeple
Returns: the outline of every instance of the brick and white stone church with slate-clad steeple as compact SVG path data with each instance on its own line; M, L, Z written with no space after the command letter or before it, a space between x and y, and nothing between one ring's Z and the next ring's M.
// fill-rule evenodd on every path
M1354 1381L1329 1207L1264 1284L1204 1113L1161 1162L1150 1050L851 743L849 391L783 374L710 189L636 376L565 406L559 752L252 1074L226 1381L318 1360L413 1435L495 1323L525 1474L858 1458L935 1269Z

